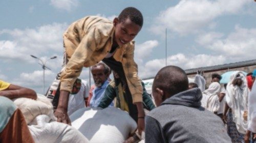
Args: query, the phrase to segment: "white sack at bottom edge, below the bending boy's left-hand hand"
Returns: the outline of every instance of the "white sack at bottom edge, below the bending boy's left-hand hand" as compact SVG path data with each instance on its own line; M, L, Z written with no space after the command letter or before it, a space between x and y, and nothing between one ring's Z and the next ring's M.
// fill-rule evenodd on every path
M51 121L47 115L39 115L35 118L29 130L35 142L40 143L89 143L77 129L67 124Z

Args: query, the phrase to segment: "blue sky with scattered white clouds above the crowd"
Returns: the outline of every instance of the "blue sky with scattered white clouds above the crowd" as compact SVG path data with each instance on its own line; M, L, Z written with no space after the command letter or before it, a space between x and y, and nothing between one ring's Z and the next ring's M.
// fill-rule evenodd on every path
M88 15L109 19L126 7L144 16L135 38L139 76L154 76L167 65L183 69L255 59L256 3L253 0L181 1L0 1L0 79L42 93L42 69L47 62L46 87L61 69L62 34L73 21ZM89 80L84 68L82 79Z

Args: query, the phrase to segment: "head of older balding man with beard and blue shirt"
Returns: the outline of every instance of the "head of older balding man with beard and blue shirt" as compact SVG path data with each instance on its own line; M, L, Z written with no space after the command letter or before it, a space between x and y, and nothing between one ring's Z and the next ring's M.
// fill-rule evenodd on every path
M92 66L91 72L95 86L101 87L109 77L110 68L104 63L98 63Z

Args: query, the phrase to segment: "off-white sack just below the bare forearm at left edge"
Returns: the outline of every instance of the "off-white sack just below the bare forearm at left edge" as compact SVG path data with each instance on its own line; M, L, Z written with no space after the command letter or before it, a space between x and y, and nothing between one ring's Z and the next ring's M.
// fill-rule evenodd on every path
M51 101L44 95L37 94L37 99L16 98L12 100L22 111L27 124L31 123L38 115L48 115L52 120L56 120L53 115Z

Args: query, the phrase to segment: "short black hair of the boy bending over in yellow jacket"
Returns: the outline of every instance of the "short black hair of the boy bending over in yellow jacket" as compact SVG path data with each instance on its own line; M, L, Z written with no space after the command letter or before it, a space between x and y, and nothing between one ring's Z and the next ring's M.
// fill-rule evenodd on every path
M138 24L139 26L142 27L143 25L143 16L141 14L141 12L134 8L134 7L127 7L125 9L122 10L122 12L119 14L118 16L118 20L119 21L124 21L127 18L130 18L131 21L133 21L134 23Z

